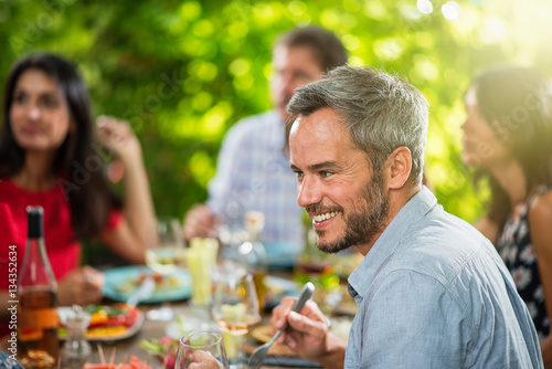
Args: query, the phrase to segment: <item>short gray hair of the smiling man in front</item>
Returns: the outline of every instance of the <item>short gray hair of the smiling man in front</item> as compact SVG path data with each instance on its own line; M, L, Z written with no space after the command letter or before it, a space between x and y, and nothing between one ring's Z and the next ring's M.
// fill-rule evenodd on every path
M411 176L422 182L429 112L414 86L375 68L343 65L297 88L287 110L295 120L326 107L342 118L354 146L367 152L374 176L381 176L394 149L405 146L412 154Z

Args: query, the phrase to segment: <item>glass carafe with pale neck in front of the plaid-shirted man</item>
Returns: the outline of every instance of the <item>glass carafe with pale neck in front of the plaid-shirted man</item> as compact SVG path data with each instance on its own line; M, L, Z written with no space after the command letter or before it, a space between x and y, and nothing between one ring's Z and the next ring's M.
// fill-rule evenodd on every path
M268 264L265 246L261 242L264 226L265 215L261 211L247 211L245 213L247 238L238 247L240 263L253 275L259 313L265 308L265 276Z

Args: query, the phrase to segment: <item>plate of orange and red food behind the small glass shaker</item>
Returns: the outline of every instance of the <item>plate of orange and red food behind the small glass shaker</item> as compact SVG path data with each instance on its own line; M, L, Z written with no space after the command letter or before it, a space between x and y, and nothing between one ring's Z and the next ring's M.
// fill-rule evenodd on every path
M109 306L88 305L83 312L89 314L91 321L86 330L86 338L96 341L112 341L128 338L135 335L144 324L144 313L135 306L115 304ZM72 314L72 308L62 306L57 308L60 339L67 338L65 321Z

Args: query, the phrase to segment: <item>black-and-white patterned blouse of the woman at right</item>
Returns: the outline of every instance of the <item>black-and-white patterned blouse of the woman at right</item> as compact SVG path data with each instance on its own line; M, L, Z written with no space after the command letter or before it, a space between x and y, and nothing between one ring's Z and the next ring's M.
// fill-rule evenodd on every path
M537 254L529 233L529 209L538 196L549 190L551 189L540 187L528 199L519 217L508 218L497 238L497 250L512 274L521 298L527 304L540 340L549 335L550 319L544 305Z

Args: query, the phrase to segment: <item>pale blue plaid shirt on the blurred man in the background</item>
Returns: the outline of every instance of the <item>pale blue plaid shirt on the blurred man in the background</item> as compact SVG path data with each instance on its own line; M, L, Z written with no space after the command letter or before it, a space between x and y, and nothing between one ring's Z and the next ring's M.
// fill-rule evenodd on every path
M234 230L244 228L246 211L262 211L265 246L293 244L297 253L304 244L302 210L284 140L284 123L275 110L236 123L222 144L208 204Z

